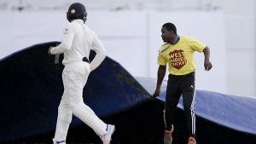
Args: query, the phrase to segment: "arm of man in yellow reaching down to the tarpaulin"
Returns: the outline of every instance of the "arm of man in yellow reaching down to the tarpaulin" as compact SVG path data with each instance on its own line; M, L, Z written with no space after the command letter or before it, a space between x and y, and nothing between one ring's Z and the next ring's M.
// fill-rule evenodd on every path
M154 90L153 97L157 97L160 95L161 84L165 76L166 76L166 66L159 66L157 71L157 83L156 83L156 88Z

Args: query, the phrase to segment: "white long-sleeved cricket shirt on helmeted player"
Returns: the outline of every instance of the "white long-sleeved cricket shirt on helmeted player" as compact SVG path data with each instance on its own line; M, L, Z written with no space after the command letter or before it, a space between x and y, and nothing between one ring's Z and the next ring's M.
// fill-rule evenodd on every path
M63 40L60 45L52 48L50 53L64 53L63 65L82 61L84 57L89 59L90 49L96 51L95 58L90 62L90 71L96 69L106 57L106 49L102 42L88 26L84 25L83 20L73 20L64 29Z

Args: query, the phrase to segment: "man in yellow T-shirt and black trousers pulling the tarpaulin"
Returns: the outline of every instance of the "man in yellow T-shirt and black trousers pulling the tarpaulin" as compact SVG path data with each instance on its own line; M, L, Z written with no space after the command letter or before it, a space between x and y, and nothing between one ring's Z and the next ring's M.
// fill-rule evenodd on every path
M164 120L166 130L165 144L172 144L172 132L174 130L174 111L180 96L183 95L183 107L189 132L188 144L196 144L195 141L195 60L194 52L203 52L205 55L205 70L212 68L210 62L210 49L196 40L194 37L179 37L176 26L166 23L161 28L161 37L165 42L160 47L158 64L158 76L154 96L160 95L160 86L166 75L166 65L169 65L169 78L166 89L166 108Z

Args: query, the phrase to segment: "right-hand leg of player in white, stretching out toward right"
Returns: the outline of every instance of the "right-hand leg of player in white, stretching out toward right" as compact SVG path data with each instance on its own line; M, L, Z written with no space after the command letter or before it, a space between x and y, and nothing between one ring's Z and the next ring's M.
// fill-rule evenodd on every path
M89 65L76 67L75 70L71 68L70 71L67 71L68 101L73 115L90 126L97 135L102 137L102 135L107 133L107 124L98 118L95 112L86 106L83 101L83 89L89 73Z

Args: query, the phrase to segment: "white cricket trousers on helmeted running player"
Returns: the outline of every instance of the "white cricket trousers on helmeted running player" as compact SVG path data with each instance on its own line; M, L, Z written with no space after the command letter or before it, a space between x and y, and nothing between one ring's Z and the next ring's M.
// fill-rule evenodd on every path
M102 122L83 101L83 89L89 74L90 65L87 62L77 61L65 65L62 72L64 93L58 107L54 142L66 141L73 115L90 126L100 137L107 133L107 124Z

